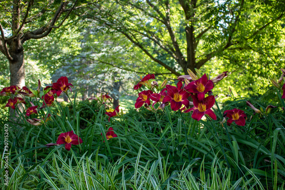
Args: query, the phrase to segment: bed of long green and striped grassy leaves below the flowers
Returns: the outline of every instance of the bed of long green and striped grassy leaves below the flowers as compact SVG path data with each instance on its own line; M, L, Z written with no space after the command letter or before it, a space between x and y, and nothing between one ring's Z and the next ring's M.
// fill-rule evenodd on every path
M104 107L95 101L73 102L75 110L60 104L58 109L43 109L38 117L50 113L53 121L41 126L27 123L23 114L13 122L1 120L1 126L8 124L7 128L1 127L0 143L4 148L7 132L9 161L5 169L1 156L0 187L283 189L284 120L276 119L273 109L272 114L254 115L242 108L246 100L234 99L223 109L214 109L217 120L205 118L199 122L191 114L181 117L170 107L157 113L144 108L131 110L123 118L112 117L108 122ZM283 107L284 101L276 106ZM235 107L247 114L245 126L221 122L223 111ZM105 136L109 127L118 137L104 138L103 142L101 133ZM64 145L44 146L71 130L83 140L72 145L71 151Z

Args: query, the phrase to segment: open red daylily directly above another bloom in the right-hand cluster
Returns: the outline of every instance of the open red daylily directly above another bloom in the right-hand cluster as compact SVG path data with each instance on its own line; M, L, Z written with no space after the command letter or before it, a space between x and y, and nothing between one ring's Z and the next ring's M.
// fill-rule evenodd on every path
M186 87L185 90L191 93L207 93L211 89L213 89L214 83L211 80L207 79L207 75L204 74L200 79L196 81L190 82Z

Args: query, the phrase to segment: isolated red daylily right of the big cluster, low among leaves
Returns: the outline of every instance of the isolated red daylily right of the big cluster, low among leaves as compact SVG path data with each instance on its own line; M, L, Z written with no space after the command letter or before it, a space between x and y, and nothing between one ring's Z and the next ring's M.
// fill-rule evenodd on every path
M244 113L244 111L235 108L224 111L224 115L229 118L227 120L228 126L230 126L233 121L239 126L245 126L245 118L247 115Z

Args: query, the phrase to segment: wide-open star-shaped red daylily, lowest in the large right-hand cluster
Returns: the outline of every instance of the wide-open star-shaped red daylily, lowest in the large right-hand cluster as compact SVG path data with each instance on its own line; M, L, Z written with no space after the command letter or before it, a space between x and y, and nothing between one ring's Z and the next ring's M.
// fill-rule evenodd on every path
M211 107L215 104L215 97L213 95L205 98L205 94L200 92L197 95L191 95L191 97L193 99L194 107L184 111L185 113L193 111L191 117L197 121L199 121L205 114L209 115L213 120L217 119L217 116L211 110Z

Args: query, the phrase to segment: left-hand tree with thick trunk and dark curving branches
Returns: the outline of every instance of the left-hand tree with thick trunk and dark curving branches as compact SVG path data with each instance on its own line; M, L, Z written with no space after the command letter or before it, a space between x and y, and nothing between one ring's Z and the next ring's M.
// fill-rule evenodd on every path
M1 1L0 51L9 61L10 85L25 86L23 44L62 26L77 1Z

